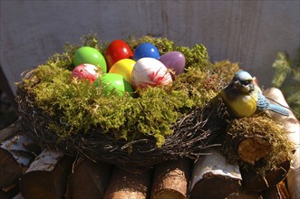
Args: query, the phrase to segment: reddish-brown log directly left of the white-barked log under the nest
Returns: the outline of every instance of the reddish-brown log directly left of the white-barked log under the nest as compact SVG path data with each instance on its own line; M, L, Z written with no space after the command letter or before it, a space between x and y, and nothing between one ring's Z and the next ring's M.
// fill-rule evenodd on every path
M187 198L190 166L188 159L169 160L155 166L151 198Z

